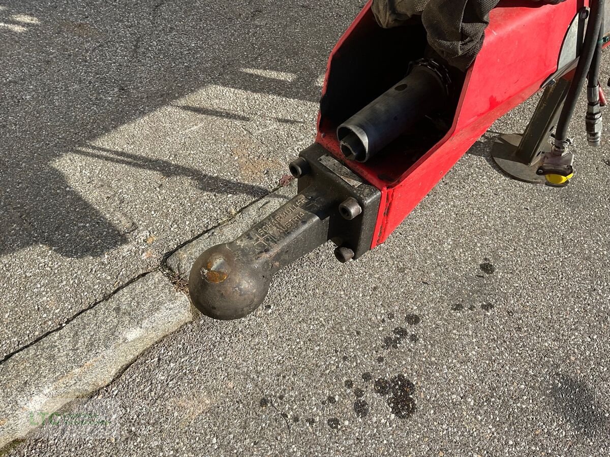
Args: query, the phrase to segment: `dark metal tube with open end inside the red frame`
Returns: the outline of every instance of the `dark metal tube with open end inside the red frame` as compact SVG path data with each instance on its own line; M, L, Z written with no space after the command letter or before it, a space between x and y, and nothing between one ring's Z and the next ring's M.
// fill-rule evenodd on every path
M447 86L439 71L416 63L403 80L339 126L343 155L359 162L369 160L415 122L442 108L448 99Z

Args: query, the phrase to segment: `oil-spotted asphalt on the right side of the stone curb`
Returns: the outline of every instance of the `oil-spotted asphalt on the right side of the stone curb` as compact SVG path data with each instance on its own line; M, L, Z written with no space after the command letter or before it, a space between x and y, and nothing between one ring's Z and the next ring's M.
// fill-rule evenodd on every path
M323 66L296 30L356 9L287 8L311 20L287 26L290 46ZM608 455L610 149L587 147L579 122L569 187L505 177L490 140L533 106L496 122L378 249L342 265L322 246L253 315L197 319L149 349L98 392L123 409L120 438L9 455Z

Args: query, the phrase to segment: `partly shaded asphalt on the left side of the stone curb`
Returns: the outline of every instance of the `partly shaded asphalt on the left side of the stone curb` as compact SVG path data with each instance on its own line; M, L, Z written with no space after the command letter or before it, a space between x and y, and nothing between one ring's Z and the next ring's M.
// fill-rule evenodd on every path
M360 2L0 6L1 360L276 188Z

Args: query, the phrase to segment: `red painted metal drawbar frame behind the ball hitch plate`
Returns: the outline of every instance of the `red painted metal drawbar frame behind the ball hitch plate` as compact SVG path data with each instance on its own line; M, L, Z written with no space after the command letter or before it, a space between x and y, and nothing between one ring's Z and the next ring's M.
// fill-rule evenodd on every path
M447 135L393 182L382 180L375 165L347 161L346 166L381 191L371 249L390 236L496 119L535 94L557 70L565 32L584 5L588 5L588 0L566 0L558 5L540 5L531 0L502 1L492 10L483 49L467 71ZM371 1L331 52L323 94L334 56L346 38L363 23L370 27L370 6ZM318 116L317 143L343 160L335 133L323 131L321 124Z

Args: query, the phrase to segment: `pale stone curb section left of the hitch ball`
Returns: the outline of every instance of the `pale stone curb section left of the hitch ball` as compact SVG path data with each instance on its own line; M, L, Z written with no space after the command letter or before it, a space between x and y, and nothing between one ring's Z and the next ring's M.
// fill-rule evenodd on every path
M193 319L190 300L160 272L146 275L0 366L0 448L109 384L140 353Z

